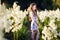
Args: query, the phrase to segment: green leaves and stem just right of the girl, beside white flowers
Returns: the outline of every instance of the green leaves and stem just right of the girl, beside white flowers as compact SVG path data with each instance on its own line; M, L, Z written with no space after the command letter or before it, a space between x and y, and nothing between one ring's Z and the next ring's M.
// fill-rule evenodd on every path
M39 38L39 40L43 40L42 39L42 30L43 30L43 28L44 28L44 26L49 26L48 24L49 24L49 22L50 22L50 18L49 17L46 17L45 18L45 20L44 20L44 22L42 22L40 19L39 19L39 31L40 31L40 38Z

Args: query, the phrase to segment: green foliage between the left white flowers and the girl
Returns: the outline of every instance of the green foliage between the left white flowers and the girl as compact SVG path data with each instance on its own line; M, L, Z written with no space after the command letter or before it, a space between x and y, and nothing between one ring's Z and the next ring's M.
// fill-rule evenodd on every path
M26 16L23 19L23 26L20 30L18 30L18 40L29 40L29 33L27 30L27 24L28 24L28 16Z

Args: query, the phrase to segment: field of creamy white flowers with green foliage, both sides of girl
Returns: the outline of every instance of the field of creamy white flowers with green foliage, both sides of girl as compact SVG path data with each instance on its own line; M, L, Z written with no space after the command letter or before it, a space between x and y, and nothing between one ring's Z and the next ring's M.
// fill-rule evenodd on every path
M14 3L13 8L6 9L0 4L0 39L1 40L30 40L27 31L28 11L20 10ZM39 40L60 39L60 9L37 12L39 16Z

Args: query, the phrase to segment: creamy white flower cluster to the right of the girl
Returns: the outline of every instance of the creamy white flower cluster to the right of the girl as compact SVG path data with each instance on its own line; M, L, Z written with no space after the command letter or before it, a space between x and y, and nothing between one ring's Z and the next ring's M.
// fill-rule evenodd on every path
M58 33L56 30L58 28L58 26L55 24L55 19L57 18L58 21L60 21L60 10L57 9L57 10L41 11L41 12L38 12L38 16L42 22L44 22L46 17L50 18L48 27L45 25L43 28L42 38L44 40L53 40L55 38L57 39L57 36L60 32Z

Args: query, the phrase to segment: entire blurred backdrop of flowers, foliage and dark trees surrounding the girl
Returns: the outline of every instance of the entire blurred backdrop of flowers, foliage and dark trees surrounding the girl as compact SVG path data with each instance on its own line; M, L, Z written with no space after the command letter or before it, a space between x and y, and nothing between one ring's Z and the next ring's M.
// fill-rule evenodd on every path
M60 0L0 0L0 40L31 40L31 3L38 8L39 40L60 40Z

